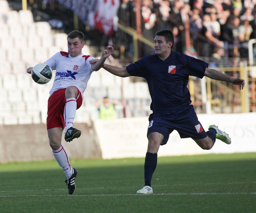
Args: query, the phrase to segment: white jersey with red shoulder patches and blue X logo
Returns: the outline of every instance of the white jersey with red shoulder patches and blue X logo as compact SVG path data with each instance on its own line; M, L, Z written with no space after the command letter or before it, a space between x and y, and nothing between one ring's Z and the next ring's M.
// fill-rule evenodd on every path
M50 96L59 89L75 86L81 91L84 99L83 93L93 72L89 63L92 59L94 57L90 55L81 54L71 57L68 52L61 51L45 61L44 63L49 65L52 70L56 70Z

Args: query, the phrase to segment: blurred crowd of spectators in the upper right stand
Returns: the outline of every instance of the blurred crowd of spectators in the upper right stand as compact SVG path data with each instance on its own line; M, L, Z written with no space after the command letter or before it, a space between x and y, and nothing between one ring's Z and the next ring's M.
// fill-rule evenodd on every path
M121 0L119 22L138 30L138 5L142 35L152 40L156 31L171 29L173 49L194 57L248 58L248 41L256 38L256 0Z

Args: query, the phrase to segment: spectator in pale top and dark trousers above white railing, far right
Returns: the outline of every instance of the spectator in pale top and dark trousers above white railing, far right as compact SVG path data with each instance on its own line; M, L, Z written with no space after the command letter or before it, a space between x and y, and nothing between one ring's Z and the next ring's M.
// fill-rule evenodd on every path
M245 19L238 28L238 39L239 39L239 53L241 58L248 58L248 41L250 35L253 32L249 21Z

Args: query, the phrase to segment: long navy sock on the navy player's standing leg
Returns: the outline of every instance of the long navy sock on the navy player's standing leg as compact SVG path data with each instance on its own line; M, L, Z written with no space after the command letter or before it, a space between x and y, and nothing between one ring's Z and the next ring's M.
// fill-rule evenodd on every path
M145 186L151 187L151 179L157 167L157 153L147 152L144 164L144 182Z

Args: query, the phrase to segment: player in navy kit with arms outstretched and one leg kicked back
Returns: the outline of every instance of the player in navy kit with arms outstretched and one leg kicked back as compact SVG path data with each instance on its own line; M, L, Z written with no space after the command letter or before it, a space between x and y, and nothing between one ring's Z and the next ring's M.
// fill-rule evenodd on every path
M232 78L208 68L208 63L199 59L172 51L173 33L170 30L156 32L154 38L155 54L148 55L127 67L115 67L104 64L108 72L120 76L139 76L148 82L151 95L151 110L148 126L148 150L144 164L145 185L138 194L153 193L151 179L157 166L157 152L160 145L167 143L169 134L178 131L181 138L192 138L202 149L211 149L216 138L230 144L228 134L217 126L209 126L205 131L198 121L191 105L190 93L187 88L189 76L232 82L243 89L245 81ZM97 59L90 61L94 63Z

